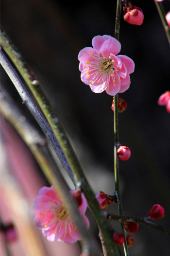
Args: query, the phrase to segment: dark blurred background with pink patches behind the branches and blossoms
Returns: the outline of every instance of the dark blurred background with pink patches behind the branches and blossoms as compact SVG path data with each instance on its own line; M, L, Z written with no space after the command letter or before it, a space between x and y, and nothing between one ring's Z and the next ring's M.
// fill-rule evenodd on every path
M130 88L119 95L128 104L125 112L119 114L119 140L132 151L128 161L119 161L123 213L145 217L153 204L160 204L165 209L165 217L155 223L170 229L170 114L157 104L160 95L170 90L170 45L154 1L134 0L132 3L142 8L144 22L141 26L131 25L123 20L122 11L120 54L127 55L136 64ZM166 13L170 11L170 1L164 0L163 4ZM81 49L92 46L94 36L106 34L114 37L115 14L116 0L77 3L60 0L1 1L1 25L40 80L96 194L99 191L106 194L114 192L112 97L105 92L92 93L89 86L81 81L77 56ZM2 68L1 81L20 110L39 129ZM6 158L11 161L14 154L21 158L23 150L17 143L23 142L3 118L2 124L2 140L16 139L16 142L10 142L15 145L12 153L6 146ZM28 154L22 156L25 160L20 171L19 164L17 168L13 167L14 162L11 168L28 209L31 209L38 190L48 182L31 153L31 160L27 158ZM29 179L24 181L26 176ZM8 221L13 214L10 214L12 209L8 207L8 200L4 199L5 193L5 190L1 192L1 217ZM117 205L110 205L107 212L117 214ZM91 231L98 238L95 220L89 212L87 216L91 221ZM17 218L12 220L17 222ZM116 221L112 221L112 225L120 231ZM70 256L71 251L73 256L80 254L77 244L73 249L72 245L51 243L41 236L41 232L34 232L37 232L41 245L45 246L42 249L44 255ZM140 225L133 237L135 244L129 249L131 256L170 255L170 238L162 232ZM33 255L27 254L24 247L21 250L20 246L23 247L17 241L11 248L12 255ZM122 248L120 250L123 255Z

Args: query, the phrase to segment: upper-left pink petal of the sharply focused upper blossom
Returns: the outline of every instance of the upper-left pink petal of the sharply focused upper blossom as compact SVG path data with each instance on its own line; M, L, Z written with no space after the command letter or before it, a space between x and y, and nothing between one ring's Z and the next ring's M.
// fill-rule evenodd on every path
M97 56L100 56L99 52L96 49L93 49L92 47L85 47L79 52L78 59L82 64L87 65L87 62L92 61L91 54L96 54Z

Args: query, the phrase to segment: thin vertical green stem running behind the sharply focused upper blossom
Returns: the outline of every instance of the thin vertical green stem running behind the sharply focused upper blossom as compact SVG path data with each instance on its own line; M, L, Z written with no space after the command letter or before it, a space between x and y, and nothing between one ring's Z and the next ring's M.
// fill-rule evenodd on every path
M119 40L120 33L120 17L121 17L121 5L122 0L117 0L117 9L116 9L116 22L115 22L115 38ZM114 137L115 137L115 147L114 147L114 160L115 160L115 191L118 201L118 211L119 215L123 215L121 197L120 197L120 186L119 186L119 159L117 158L117 149L119 144L119 119L118 119L118 94L114 96ZM121 223L121 232L124 235L124 254L129 256L127 241L126 241L126 232Z

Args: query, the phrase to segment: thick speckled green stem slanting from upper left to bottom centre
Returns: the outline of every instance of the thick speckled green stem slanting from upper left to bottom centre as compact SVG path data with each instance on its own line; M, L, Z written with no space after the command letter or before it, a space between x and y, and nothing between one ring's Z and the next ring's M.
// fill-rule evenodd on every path
M39 81L35 77L34 72L30 69L30 67L28 67L26 61L22 58L21 54L18 52L17 48L14 46L12 41L6 35L4 30L1 32L0 39L1 39L1 45L2 45L3 49L6 51L8 56L12 59L14 64L17 66L17 69L19 70L20 74L22 75L22 77L25 79L25 81L29 85L29 87L32 90L35 98L37 99L44 115L46 116L49 124L51 125L51 128L55 135L54 136L51 133L52 140L56 140L56 138L58 139L58 142L68 160L68 164L69 164L69 166L74 174L74 177L76 179L76 186L80 187L82 192L85 194L85 197L87 199L89 207L90 207L90 209L98 223L98 226L102 232L102 236L105 240L105 244L106 244L107 250L109 252L109 256L119 256L119 251L118 251L117 245L112 240L111 227L109 226L109 223L103 214L103 211L94 195L94 192L92 191L90 185L88 184L88 181L84 175L84 172L79 163L79 160L76 157L76 155L70 145L70 142L68 140L66 132L64 131L58 117L55 115L54 111L52 110L49 100L47 99L43 90L40 87ZM6 65L5 61L7 61L7 60L4 59L4 56L1 53L1 63L3 62L3 64ZM18 79L16 79L16 81L18 82ZM20 91L21 98L23 96L22 93L24 91L24 95L28 99L28 102L26 100L25 104L27 105L27 103L29 103L29 101L30 101L30 103L31 103L30 111L31 111L34 101L31 98L29 98L28 92L26 91L25 87L22 86L22 88L19 88L19 91ZM36 108L36 106L34 107L34 111L38 112L38 109ZM36 113L34 113L34 114L36 114ZM41 117L40 114L38 114L38 118L39 117ZM43 117L41 117L41 120L43 120ZM41 120L39 120L40 126L42 124ZM43 123L45 123L45 120L43 120ZM44 132L47 135L47 131L45 130L46 127L47 127L47 125L44 126ZM42 126L41 126L41 128L42 128ZM49 137L50 141L51 141L51 136Z

